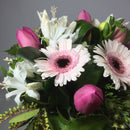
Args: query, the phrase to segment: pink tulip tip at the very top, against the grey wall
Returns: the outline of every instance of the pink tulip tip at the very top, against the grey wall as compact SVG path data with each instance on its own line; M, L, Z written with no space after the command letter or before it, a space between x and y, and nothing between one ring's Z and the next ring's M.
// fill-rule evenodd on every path
M90 14L88 12L86 12L85 10L82 10L79 13L77 20L84 20L88 23L92 23Z

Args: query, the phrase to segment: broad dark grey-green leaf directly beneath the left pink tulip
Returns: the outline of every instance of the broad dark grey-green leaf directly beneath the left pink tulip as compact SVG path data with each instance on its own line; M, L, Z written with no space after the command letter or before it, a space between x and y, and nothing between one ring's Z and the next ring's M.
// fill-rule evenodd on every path
M39 57L45 57L45 55L42 52L33 47L20 48L17 55L25 59L28 59L32 62L34 62L34 60Z

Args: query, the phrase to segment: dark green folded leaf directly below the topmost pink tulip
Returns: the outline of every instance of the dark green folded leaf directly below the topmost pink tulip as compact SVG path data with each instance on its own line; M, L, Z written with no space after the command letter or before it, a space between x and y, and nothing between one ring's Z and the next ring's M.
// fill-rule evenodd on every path
M90 30L91 30L91 43L92 44L99 43L100 31L98 28L94 27L92 24L83 20L77 21L77 28L80 28L80 31L79 31L79 36L76 43L81 43L85 35L87 34L87 32Z

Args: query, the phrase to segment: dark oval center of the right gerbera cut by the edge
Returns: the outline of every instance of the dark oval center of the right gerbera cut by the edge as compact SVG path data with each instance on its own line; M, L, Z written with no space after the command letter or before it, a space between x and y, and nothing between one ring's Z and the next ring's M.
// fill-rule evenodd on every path
M124 73L124 66L123 63L117 57L110 56L108 58L109 64L117 73Z

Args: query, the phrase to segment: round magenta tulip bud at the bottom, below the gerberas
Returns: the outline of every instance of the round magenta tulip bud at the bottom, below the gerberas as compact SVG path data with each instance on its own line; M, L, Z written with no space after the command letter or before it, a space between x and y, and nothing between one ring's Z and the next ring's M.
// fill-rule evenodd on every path
M94 85L87 84L74 94L74 105L82 114L96 111L103 101L102 90Z

